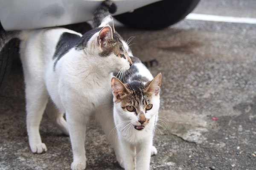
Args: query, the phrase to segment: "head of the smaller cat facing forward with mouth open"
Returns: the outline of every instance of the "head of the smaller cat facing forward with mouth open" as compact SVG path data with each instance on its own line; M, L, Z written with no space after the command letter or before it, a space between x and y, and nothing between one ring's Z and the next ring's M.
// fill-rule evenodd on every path
M123 84L119 79L111 79L115 113L129 121L137 130L143 130L158 113L160 105L161 73L143 84L132 82ZM154 121L154 120L152 120Z

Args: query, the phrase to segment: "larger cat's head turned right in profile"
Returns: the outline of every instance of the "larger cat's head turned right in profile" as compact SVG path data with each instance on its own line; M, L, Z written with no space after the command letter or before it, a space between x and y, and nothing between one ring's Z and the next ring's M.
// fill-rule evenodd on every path
M97 57L99 63L105 64L112 71L119 71L121 68L127 70L132 63L128 45L115 31L110 15L102 20L98 28L87 31L77 43L76 49Z

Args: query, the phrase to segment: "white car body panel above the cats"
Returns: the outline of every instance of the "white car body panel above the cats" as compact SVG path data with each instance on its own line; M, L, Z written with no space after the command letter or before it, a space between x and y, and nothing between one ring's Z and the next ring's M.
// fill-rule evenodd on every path
M92 20L103 0L0 0L0 21L7 31L63 26ZM160 0L113 0L114 15Z

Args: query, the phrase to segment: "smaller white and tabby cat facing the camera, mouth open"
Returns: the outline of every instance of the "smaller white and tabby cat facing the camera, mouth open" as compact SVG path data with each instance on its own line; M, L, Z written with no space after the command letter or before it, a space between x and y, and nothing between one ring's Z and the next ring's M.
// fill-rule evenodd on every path
M124 74L111 79L113 114L122 148L125 170L149 170L150 156L157 153L152 146L154 127L160 106L161 73L153 79L140 59Z

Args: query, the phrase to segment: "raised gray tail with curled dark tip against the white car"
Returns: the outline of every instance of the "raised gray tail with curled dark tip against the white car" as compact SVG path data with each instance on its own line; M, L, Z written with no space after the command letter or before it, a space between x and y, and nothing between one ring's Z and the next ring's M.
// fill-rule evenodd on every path
M116 12L116 4L111 0L103 1L98 8L93 12L93 28L98 27L102 20L109 14Z

